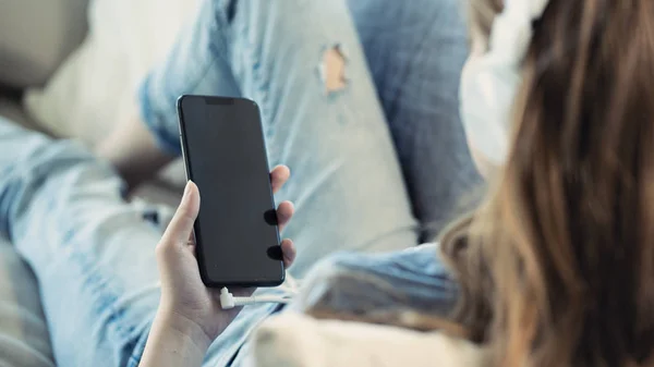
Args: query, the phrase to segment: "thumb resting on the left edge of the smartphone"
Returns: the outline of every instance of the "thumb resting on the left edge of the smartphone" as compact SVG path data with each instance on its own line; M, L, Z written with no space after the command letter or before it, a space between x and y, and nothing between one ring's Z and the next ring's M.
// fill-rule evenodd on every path
M193 181L186 183L182 201L178 207L172 220L168 224L161 243L164 245L186 244L191 233L193 233L193 223L199 212L199 191Z

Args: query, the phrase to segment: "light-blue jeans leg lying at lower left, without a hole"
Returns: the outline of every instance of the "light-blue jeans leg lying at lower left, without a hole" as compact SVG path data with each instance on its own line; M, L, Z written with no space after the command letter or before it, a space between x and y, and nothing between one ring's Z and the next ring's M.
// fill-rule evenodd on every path
M81 147L0 121L0 232L32 265L59 366L135 365L158 305L159 231Z

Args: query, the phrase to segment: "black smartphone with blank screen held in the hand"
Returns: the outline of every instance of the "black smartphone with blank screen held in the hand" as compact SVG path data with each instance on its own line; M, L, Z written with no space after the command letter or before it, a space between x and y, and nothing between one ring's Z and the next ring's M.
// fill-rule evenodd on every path
M199 188L194 225L205 285L276 286L284 280L258 106L244 98L178 100L186 179Z

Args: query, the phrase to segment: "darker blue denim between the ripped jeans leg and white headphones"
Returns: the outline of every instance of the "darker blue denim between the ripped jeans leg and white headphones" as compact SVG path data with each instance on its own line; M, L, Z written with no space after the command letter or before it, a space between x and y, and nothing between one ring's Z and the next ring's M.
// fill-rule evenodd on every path
M431 240L482 186L459 119L468 1L349 0L416 219Z

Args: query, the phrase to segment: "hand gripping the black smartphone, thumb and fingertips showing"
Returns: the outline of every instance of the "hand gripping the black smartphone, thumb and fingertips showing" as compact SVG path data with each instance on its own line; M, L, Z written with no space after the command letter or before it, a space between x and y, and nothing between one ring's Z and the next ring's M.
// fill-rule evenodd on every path
M286 167L270 172L272 191L277 192L289 178ZM219 290L207 289L199 277L195 244L190 242L193 224L201 207L197 186L189 182L184 197L157 245L157 262L161 280L161 302L156 322L174 327L187 333L197 345L210 344L234 319L239 309L222 310ZM293 216L293 206L283 201L277 209L279 227L283 228ZM290 267L295 248L290 240L281 242L283 264ZM250 296L253 289L232 289L235 295ZM149 344L149 341L148 341Z

